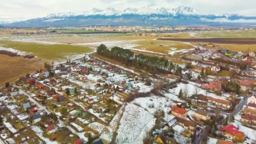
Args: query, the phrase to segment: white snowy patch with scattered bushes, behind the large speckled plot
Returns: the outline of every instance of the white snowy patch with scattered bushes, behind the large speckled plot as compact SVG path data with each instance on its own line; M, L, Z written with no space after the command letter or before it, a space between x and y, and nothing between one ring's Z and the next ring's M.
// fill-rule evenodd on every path
M163 119L166 122L173 118L173 116L168 115L168 113L171 111L171 107L176 105L170 99L159 96L137 98L133 101L133 104L138 104L140 107L146 109L152 115L155 115L155 112L158 109L163 110L165 112L165 117Z

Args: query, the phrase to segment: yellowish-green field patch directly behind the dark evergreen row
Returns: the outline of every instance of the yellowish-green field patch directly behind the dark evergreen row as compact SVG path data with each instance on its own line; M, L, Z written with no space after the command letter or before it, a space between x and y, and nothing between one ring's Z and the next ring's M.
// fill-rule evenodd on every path
M156 53L168 54L169 51L193 48L192 45L177 42L177 41L164 41L164 40L141 40L136 41L139 46L133 47L144 51L152 51Z

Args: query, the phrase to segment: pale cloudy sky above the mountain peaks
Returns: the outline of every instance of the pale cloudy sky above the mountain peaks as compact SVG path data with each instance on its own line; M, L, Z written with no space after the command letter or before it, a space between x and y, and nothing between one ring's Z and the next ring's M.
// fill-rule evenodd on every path
M239 13L256 16L256 0L0 0L0 21L25 20L50 13L81 12L92 8L174 8L191 6L203 14Z

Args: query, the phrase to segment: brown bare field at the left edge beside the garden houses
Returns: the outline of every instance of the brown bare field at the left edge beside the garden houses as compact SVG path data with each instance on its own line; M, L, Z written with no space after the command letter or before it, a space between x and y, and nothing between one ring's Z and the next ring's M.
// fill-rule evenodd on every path
M24 59L22 56L7 56L0 54L0 85L3 86L7 80L15 81L27 73L36 71L43 67L44 61L37 58Z

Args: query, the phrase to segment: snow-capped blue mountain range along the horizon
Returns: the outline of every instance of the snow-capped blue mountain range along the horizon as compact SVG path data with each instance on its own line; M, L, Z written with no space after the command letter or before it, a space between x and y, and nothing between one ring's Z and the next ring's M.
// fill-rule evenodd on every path
M3 27L66 27L66 26L244 26L256 25L256 17L240 14L202 14L199 10L177 8L125 8L120 11L109 7L92 8L83 12L52 13L27 21L12 22Z

